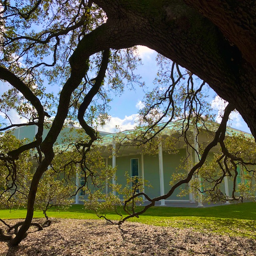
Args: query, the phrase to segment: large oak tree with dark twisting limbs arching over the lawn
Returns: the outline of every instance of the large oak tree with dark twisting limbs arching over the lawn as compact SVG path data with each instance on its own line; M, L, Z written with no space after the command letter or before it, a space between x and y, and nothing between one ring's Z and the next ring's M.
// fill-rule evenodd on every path
M1 0L0 4L0 79L11 85L2 95L0 106L6 117L10 109L15 109L28 119L23 125L38 127L34 141L2 156L2 160L10 162L17 161L26 150L38 152L26 220L11 240L12 244L18 244L30 226L38 184L54 158L53 146L64 121L72 114L76 114L89 136L76 145L84 154L77 163L81 167L86 163L85 155L97 139L96 131L90 126L92 118L98 115L104 122L106 117L106 105L96 104L98 108L93 108L91 102L95 96L108 102L108 93L102 86L105 74L110 89L122 90L124 79L136 81L129 72L136 64L133 46L140 44L156 50L190 74L199 76L229 102L200 162L186 179L172 186L165 196L152 200L150 206L156 200L168 198L180 184L190 181L210 149L224 140L232 110L242 115L256 137L254 2ZM95 76L89 79L89 72ZM60 86L58 97L46 88L48 83ZM175 81L172 80L172 84ZM172 88L166 91L164 98L170 99L173 108ZM188 91L186 102L196 100L197 93L198 90ZM51 115L55 118L42 140L44 122ZM20 125L7 124L1 130ZM222 148L225 151L225 147ZM234 160L234 156L231 157Z

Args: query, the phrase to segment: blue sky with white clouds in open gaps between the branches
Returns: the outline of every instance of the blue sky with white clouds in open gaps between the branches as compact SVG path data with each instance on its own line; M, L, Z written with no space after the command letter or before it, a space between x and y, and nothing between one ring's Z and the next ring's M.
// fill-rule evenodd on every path
M142 80L145 82L146 87L153 88L153 80L156 77L158 67L156 66L156 52L146 48L145 46L138 46L140 56L142 58L142 66L138 66L137 73L142 76ZM8 89L8 84L0 81L0 93ZM226 102L219 96L216 96L214 91L210 91L210 97L208 101L212 105L213 111L216 116L216 122L220 122L221 115L223 114ZM138 119L138 110L142 107L142 100L144 92L139 86L136 90L125 89L124 93L120 96L112 96L112 102L110 103L111 110L108 113L110 115L110 122L104 127L100 127L99 130L106 132L115 132L116 126L120 127L120 130L130 130L135 126L135 121ZM11 110L9 112L13 123L21 123L25 120L18 116L18 114ZM0 114L1 116L1 114ZM0 120L1 121L1 120ZM240 114L233 112L231 114L231 120L229 125L238 130L244 132L250 132L247 124L244 122Z

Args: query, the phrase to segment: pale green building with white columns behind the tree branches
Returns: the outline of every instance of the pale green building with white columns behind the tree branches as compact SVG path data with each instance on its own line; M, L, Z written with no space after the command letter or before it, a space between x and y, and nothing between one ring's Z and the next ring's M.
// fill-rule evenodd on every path
M161 127L160 124L159 126ZM66 137L66 134L70 133L72 128L72 133L74 137L76 136L76 129L72 125L66 126L57 139L57 144L61 145ZM199 144L207 143L209 137L205 134L198 134L198 136L194 136L191 133L191 145L190 147L184 147L185 142L180 141L176 145L175 154L169 154L168 149L165 148L164 140L169 136L172 130L172 124L169 124L164 128L161 133L162 142L158 145L158 152L156 154L147 154L143 152L140 147L129 145L129 143L120 144L118 142L119 134L108 133L108 132L99 132L102 136L102 141L99 144L98 150L100 150L102 157L106 161L106 166L116 167L116 182L118 184L126 185L126 177L125 173L127 172L131 177L139 176L144 180L148 180L152 188L145 187L143 188L143 192L145 192L150 198L162 196L166 194L171 186L171 176L176 172L184 172L188 173L191 166L198 161L198 154L195 150L198 148ZM16 138L28 139L30 141L34 140L34 137L37 133L37 126L24 126L18 127L12 130L14 136ZM44 129L43 139L46 137L48 129ZM129 131L130 133L132 131ZM238 131L239 132L239 131ZM124 132L124 133L127 133ZM122 135L122 133L121 133ZM196 138L195 138L196 137ZM163 146L164 145L164 146ZM194 149L193 149L194 148ZM215 147L212 152L210 152L208 158L213 156L213 152L217 151L218 148ZM190 162L187 170L180 168L181 160L186 160ZM76 179L76 184L79 186L83 180L79 177L79 170L77 170L77 176L74 177ZM241 180L240 180L241 182ZM182 185L181 189L188 187L189 184ZM221 186L221 190L223 194L227 197L232 195L232 180L225 177L224 184ZM108 193L110 189L106 187L106 193ZM142 191L140 191L142 192ZM199 201L199 206L202 206L202 202L200 202L200 198L196 198L196 196L190 192L185 196L179 197L180 190L176 189L174 193L166 200L162 200L161 204L164 206L166 202L191 202L194 203ZM120 195L122 197L122 195ZM76 203L78 203L81 199L86 199L86 196L81 193L76 196ZM145 198L144 198L145 199ZM228 203L228 201L227 201Z

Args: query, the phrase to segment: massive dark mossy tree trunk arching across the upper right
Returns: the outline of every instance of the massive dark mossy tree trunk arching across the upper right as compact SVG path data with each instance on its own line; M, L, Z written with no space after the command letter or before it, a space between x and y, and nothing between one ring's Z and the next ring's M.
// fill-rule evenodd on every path
M255 4L186 0L190 7L182 0L94 2L105 10L108 20L78 46L84 48L85 58L106 47L148 46L205 80L236 107L256 138Z

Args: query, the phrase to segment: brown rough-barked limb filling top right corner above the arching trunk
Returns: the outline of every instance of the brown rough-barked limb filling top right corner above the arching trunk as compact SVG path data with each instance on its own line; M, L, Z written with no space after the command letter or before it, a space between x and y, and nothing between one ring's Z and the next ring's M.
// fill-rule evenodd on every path
M255 1L229 0L185 0L187 4L198 10L211 20L232 44L235 44L242 56L256 70L256 4Z

